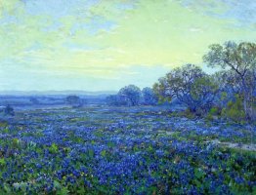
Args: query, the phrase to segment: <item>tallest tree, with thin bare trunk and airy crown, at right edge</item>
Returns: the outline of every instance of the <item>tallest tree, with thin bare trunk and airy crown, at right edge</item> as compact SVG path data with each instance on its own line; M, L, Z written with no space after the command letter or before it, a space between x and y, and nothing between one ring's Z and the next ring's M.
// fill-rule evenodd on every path
M230 70L230 82L235 84L236 89L240 89L246 117L251 118L252 107L248 106L255 99L252 92L255 91L256 83L256 44L247 42L236 44L229 41L223 45L213 44L209 49L203 60L210 67L219 66Z

